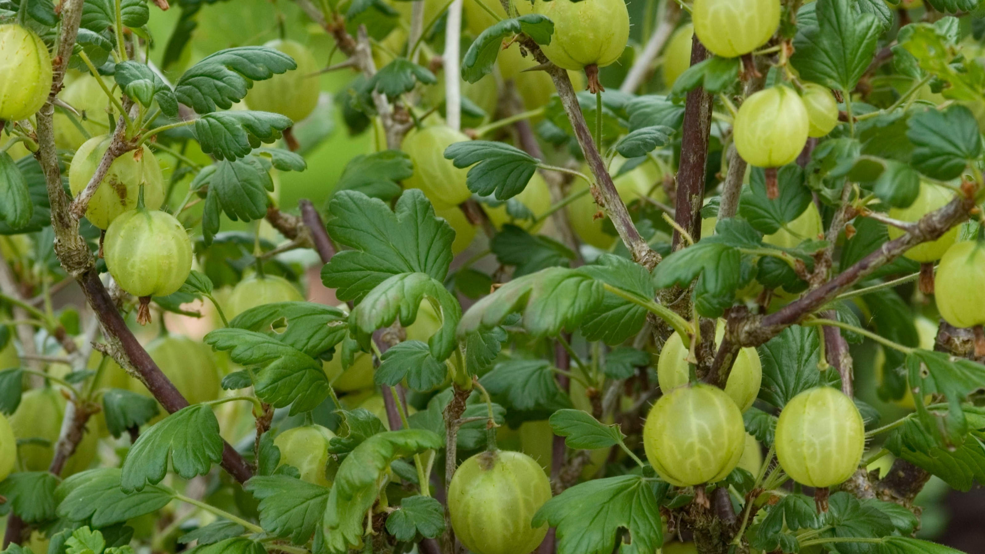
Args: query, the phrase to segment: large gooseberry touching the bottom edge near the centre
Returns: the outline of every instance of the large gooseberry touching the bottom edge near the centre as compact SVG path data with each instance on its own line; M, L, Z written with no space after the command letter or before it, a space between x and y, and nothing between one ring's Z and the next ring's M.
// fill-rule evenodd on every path
M558 0L567 1L567 0ZM548 526L531 520L551 499L551 483L534 458L492 450L462 462L448 487L451 526L475 554L531 552Z

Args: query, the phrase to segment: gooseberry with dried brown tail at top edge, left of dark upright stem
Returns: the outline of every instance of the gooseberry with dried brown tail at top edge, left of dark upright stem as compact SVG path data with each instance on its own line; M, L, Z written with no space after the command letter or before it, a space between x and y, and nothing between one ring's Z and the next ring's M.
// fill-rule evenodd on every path
M534 13L554 22L544 55L563 69L584 68L588 90L604 91L599 68L618 60L629 38L629 12L624 0L537 0Z

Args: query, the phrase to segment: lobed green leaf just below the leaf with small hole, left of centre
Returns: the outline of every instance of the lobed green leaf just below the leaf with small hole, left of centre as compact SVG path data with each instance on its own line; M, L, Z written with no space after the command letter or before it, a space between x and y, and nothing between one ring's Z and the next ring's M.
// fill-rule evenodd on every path
M291 414L313 409L328 397L328 378L321 363L276 338L256 331L225 328L205 335L206 344L230 351L242 366L265 366L254 383L257 397Z

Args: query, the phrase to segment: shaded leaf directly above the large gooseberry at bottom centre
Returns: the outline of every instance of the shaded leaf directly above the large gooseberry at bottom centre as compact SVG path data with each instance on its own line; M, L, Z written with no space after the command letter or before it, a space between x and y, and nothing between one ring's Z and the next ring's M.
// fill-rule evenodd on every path
M547 360L500 362L480 381L490 394L518 410L551 406L561 394Z

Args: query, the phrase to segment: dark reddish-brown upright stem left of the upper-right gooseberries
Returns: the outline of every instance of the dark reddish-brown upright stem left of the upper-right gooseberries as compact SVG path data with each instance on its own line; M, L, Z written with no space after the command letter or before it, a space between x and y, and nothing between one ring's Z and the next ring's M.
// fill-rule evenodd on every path
M704 44L694 35L690 45L690 64L701 63L707 57ZM711 133L711 101L711 95L698 87L688 93L685 102L674 221L694 241L701 238L701 204L704 201L704 173ZM675 230L673 249L680 250L685 245L681 233Z

